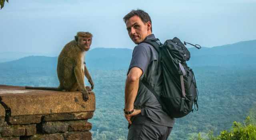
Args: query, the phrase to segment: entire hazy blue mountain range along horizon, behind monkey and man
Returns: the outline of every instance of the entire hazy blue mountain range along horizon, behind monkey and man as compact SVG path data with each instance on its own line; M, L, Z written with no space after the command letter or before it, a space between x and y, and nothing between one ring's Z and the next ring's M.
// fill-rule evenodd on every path
M193 66L256 66L256 40L198 50L189 48ZM131 49L95 48L86 54L86 64L93 70L127 69L132 56ZM0 70L56 70L57 57L27 56L0 63Z

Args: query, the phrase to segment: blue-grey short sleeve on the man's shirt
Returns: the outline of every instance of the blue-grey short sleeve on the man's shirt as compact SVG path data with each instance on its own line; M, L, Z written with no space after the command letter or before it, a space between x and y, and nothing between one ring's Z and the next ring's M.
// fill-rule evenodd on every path
M132 60L130 62L129 70L127 74L129 73L130 69L133 67L138 67L142 70L144 75L144 72L148 68L149 64L149 55L147 50L145 49L144 46L136 46L134 47L134 50L132 52Z

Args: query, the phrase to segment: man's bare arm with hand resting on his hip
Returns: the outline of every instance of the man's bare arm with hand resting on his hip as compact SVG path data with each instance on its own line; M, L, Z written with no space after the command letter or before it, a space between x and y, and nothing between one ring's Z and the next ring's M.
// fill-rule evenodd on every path
M143 74L142 70L138 67L130 69L125 83L125 111L132 111L134 109L134 101L138 93L140 76ZM140 113L140 109L134 109L134 112L130 115L124 115L127 121L132 124L130 118Z

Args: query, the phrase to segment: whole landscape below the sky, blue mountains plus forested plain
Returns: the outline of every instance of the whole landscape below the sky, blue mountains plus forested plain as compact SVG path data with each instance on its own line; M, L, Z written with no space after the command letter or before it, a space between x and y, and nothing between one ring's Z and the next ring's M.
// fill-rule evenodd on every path
M210 130L220 134L230 130L232 122L243 122L256 105L256 40L189 50L199 111L176 119L168 140L194 140L198 132L206 136ZM127 121L122 109L131 56L131 49L96 48L86 54L96 93L96 111L90 120L94 140L126 140ZM57 57L46 56L0 63L0 84L57 87L56 64Z

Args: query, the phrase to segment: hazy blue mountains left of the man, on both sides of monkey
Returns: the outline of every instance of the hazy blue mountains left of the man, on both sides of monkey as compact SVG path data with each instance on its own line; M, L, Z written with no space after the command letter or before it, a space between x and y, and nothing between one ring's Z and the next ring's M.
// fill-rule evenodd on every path
M132 57L131 49L95 48L86 54L86 65L90 70L124 70ZM56 73L58 57L27 56L18 60L0 63L0 73Z

